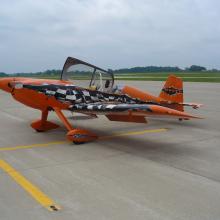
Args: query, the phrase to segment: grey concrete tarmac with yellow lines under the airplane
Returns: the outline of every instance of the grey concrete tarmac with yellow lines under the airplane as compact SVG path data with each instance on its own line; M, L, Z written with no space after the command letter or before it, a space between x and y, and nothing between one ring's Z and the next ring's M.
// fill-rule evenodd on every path
M122 83L122 81L119 81ZM159 94L162 82L123 84ZM204 119L148 124L90 119L74 126L101 138L74 145L59 129L37 133L40 112L0 92L0 220L219 219L220 84L185 83L186 110Z

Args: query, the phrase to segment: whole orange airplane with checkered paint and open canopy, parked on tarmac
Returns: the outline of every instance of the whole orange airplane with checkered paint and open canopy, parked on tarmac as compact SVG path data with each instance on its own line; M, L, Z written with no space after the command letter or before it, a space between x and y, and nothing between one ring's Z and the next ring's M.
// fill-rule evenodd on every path
M157 97L130 86L115 86L111 72L72 57L67 58L60 80L7 77L0 80L0 89L11 93L24 105L41 111L41 119L31 124L38 132L59 127L47 120L49 111L55 111L68 130L68 140L75 144L95 140L98 136L74 128L62 110L95 117L104 114L111 121L147 123L146 118L150 117L199 118L185 113L184 106L201 106L183 102L183 83L176 76L168 77Z

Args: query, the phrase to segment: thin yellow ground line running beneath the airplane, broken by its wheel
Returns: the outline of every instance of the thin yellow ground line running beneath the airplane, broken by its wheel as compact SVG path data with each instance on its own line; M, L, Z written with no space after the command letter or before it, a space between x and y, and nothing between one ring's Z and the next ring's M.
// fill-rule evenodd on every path
M167 131L167 128L160 128L160 129L148 129L148 130L141 130L141 131L131 131L131 132L119 132L112 135L107 136L100 136L99 139L111 139L115 137L124 137L124 136L134 136L134 135L142 135L145 133L159 133ZM20 149L28 149L28 148L35 148L35 147L49 147L51 145L59 145L59 144L65 144L69 141L54 141L54 142L48 142L48 143L42 143L42 144L31 144L31 145L23 145L23 146L15 146L15 147L2 147L0 148L1 151L14 151L14 150L20 150Z

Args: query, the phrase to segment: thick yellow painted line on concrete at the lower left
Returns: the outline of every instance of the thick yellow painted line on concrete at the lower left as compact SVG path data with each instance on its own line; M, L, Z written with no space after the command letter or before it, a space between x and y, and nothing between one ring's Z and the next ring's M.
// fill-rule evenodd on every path
M18 183L26 192L28 192L38 203L50 211L58 211L60 207L44 194L39 188L29 182L24 176L16 171L4 160L0 160L0 168L3 169L16 183Z

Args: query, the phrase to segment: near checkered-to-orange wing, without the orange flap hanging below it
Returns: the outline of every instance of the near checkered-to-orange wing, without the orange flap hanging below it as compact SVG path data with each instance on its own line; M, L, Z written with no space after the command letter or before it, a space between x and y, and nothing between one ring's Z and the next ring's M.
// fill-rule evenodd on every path
M70 106L70 111L94 114L124 114L139 115L145 117L175 117L175 118L199 118L185 112L152 104L103 104L103 103L81 103Z

